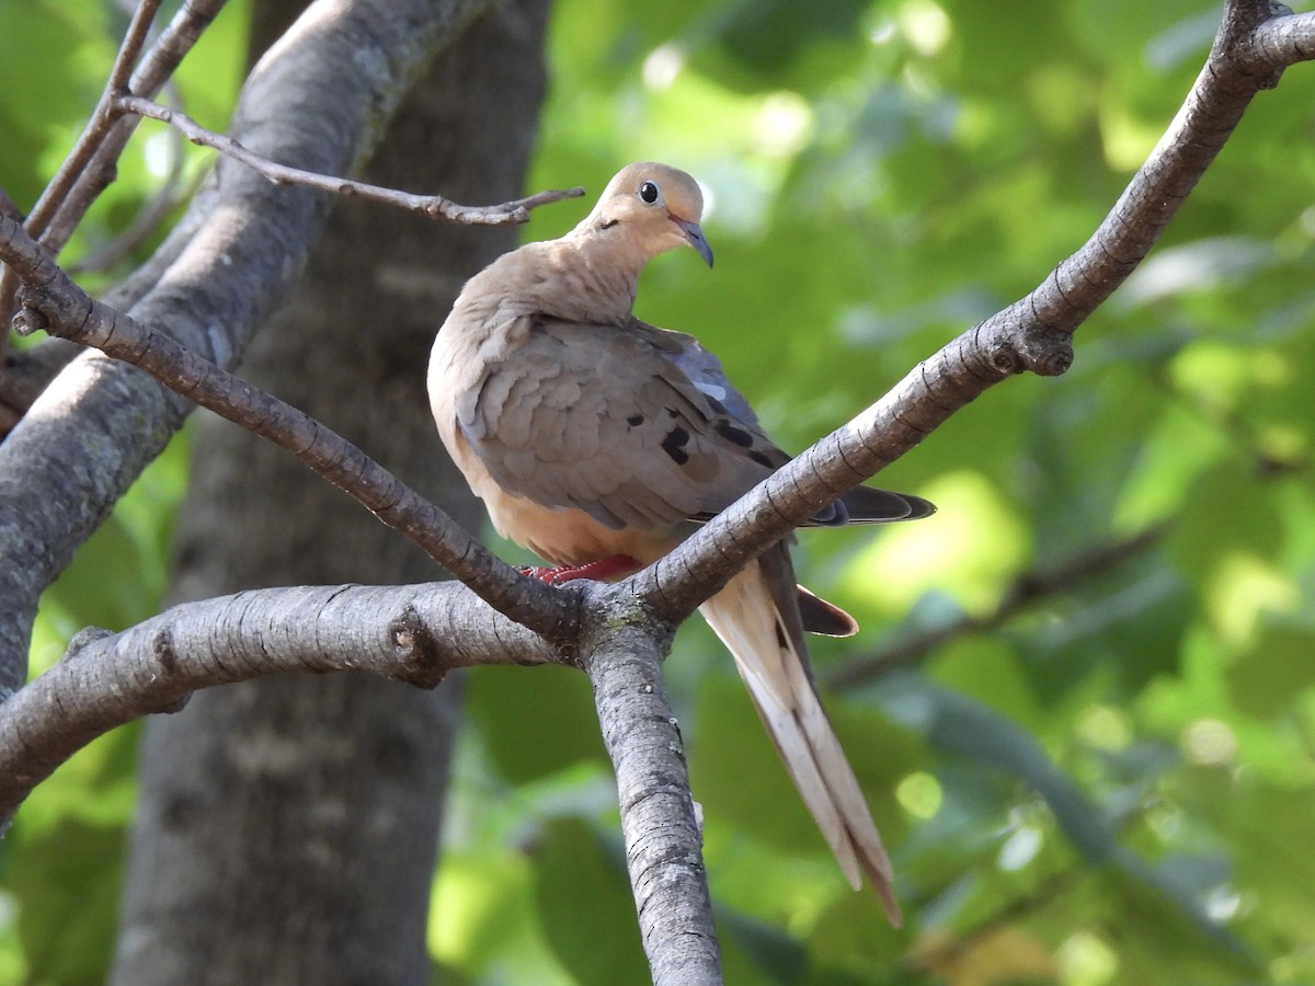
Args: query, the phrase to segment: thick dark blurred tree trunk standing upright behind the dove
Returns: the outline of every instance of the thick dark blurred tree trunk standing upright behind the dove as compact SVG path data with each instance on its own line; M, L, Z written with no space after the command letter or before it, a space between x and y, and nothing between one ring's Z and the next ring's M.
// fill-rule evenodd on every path
M288 20L268 11L262 24ZM522 188L544 4L480 21L394 120L380 184L501 201ZM262 32L263 38L270 34ZM342 202L246 375L444 504L423 396L437 326L514 231ZM176 596L438 576L416 547L284 454L203 422ZM467 505L458 518L477 523ZM114 982L416 983L456 695L356 674L197 694L150 723Z

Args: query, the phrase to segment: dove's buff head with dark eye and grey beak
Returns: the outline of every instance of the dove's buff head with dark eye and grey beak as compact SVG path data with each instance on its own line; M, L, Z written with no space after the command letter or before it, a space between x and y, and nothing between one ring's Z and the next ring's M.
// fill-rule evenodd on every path
M698 226L702 216L704 193L693 177L646 162L618 171L581 226L619 233L646 259L689 245L711 267L713 248Z

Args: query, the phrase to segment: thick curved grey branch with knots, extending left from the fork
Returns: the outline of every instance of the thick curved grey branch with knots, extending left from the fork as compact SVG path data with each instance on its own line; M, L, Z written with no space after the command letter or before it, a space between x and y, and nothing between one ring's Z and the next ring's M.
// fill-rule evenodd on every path
M540 638L455 582L260 589L176 606L121 634L87 630L0 703L0 819L96 736L176 711L201 688L333 670L433 688L454 668L554 660Z

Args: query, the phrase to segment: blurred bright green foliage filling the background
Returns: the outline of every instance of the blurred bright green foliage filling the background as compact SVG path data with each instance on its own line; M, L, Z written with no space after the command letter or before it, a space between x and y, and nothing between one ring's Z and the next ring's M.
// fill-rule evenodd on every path
M0 35L22 38L0 60L0 183L22 205L95 100L112 9L0 0ZM530 184L594 193L642 159L705 181L717 268L663 258L639 314L698 334L797 450L1090 235L1218 16L1202 0L560 0ZM206 122L231 101L242 24L225 13L188 59L183 97ZM880 477L935 518L803 536L802 576L864 624L815 657L849 682L826 699L890 841L903 931L848 890L725 652L682 630L668 681L729 981L1315 979L1312 105L1310 66L1257 99L1080 330L1066 376L1007 381ZM134 145L74 255L158 183ZM539 210L526 235L584 209ZM151 611L181 482L162 460L51 590L38 669L76 626ZM1160 525L993 621L1032 573ZM871 661L953 624L898 669ZM443 981L640 981L586 682L488 669L468 709L431 916ZM75 759L0 844L0 981L97 981L130 747Z

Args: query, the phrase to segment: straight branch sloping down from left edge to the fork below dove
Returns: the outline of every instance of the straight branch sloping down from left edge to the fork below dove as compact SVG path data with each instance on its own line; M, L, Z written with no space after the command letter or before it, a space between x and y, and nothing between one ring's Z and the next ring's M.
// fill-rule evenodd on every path
M573 636L577 598L525 578L447 514L354 444L296 408L197 356L171 337L87 296L13 220L0 217L0 255L24 280L13 329L38 329L143 369L175 393L292 452L410 538L500 613L550 640Z

